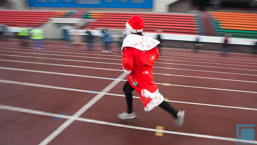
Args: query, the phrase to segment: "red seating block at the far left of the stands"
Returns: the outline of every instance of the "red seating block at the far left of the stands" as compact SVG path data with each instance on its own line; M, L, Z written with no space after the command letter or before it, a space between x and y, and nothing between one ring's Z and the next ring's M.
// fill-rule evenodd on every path
M50 18L69 18L72 14L73 11L0 11L0 24L39 27Z

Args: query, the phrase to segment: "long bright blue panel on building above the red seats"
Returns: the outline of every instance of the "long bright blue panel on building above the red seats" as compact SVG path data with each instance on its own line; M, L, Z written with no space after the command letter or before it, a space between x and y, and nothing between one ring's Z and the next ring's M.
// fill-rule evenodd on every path
M138 3L137 3L138 2ZM152 8L153 0L29 0L30 7Z

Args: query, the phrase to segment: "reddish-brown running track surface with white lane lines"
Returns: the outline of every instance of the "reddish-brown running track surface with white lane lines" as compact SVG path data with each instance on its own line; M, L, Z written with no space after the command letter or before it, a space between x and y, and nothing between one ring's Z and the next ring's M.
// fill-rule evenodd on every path
M154 78L167 101L185 110L185 123L176 128L160 108L145 112L136 92L138 117L116 117L126 109L126 77L119 78L122 57L115 45L112 53L96 46L87 51L85 46L49 41L43 50L33 50L1 43L0 144L234 145L239 142L237 124L257 123L254 55L231 53L224 58L215 51L164 48ZM164 133L156 136L156 131Z

